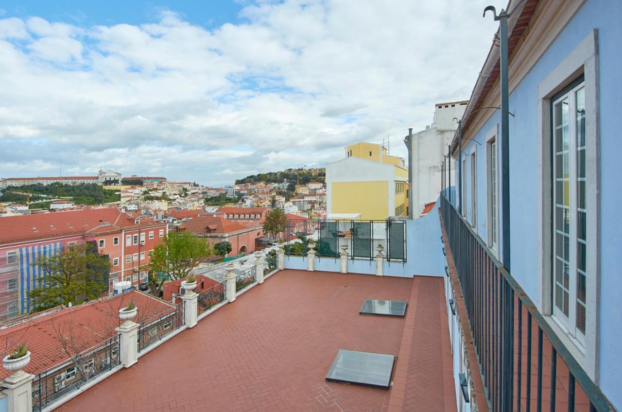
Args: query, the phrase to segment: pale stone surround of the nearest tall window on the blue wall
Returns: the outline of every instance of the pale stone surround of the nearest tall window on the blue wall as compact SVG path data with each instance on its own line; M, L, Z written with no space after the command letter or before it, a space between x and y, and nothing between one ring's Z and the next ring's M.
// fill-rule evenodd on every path
M598 300L600 296L600 267L598 265L598 251L600 250L600 165L598 163L598 147L600 132L598 129L598 30L589 32L577 46L570 50L558 65L537 85L538 105L538 187L540 189L537 204L539 205L537 220L539 236L537 243L539 269L539 299L536 299L537 309L544 314L550 327L557 337L570 350L577 362L583 367L592 380L599 377L598 358L600 345L600 321L598 314ZM586 252L587 310L585 314L585 350L580 350L576 341L571 339L567 331L560 327L552 317L552 179L551 179L551 105L550 100L559 91L573 82L583 73L585 81L585 108L587 119L586 141L586 209L587 216L586 238L589 240Z

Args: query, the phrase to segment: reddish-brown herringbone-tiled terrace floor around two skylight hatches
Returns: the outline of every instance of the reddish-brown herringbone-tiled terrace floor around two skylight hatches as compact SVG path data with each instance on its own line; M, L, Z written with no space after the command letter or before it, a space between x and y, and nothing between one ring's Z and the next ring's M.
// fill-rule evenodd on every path
M407 315L360 315L364 299ZM396 355L393 388L326 382L339 349ZM59 410L415 409L456 410L443 279L284 270Z

